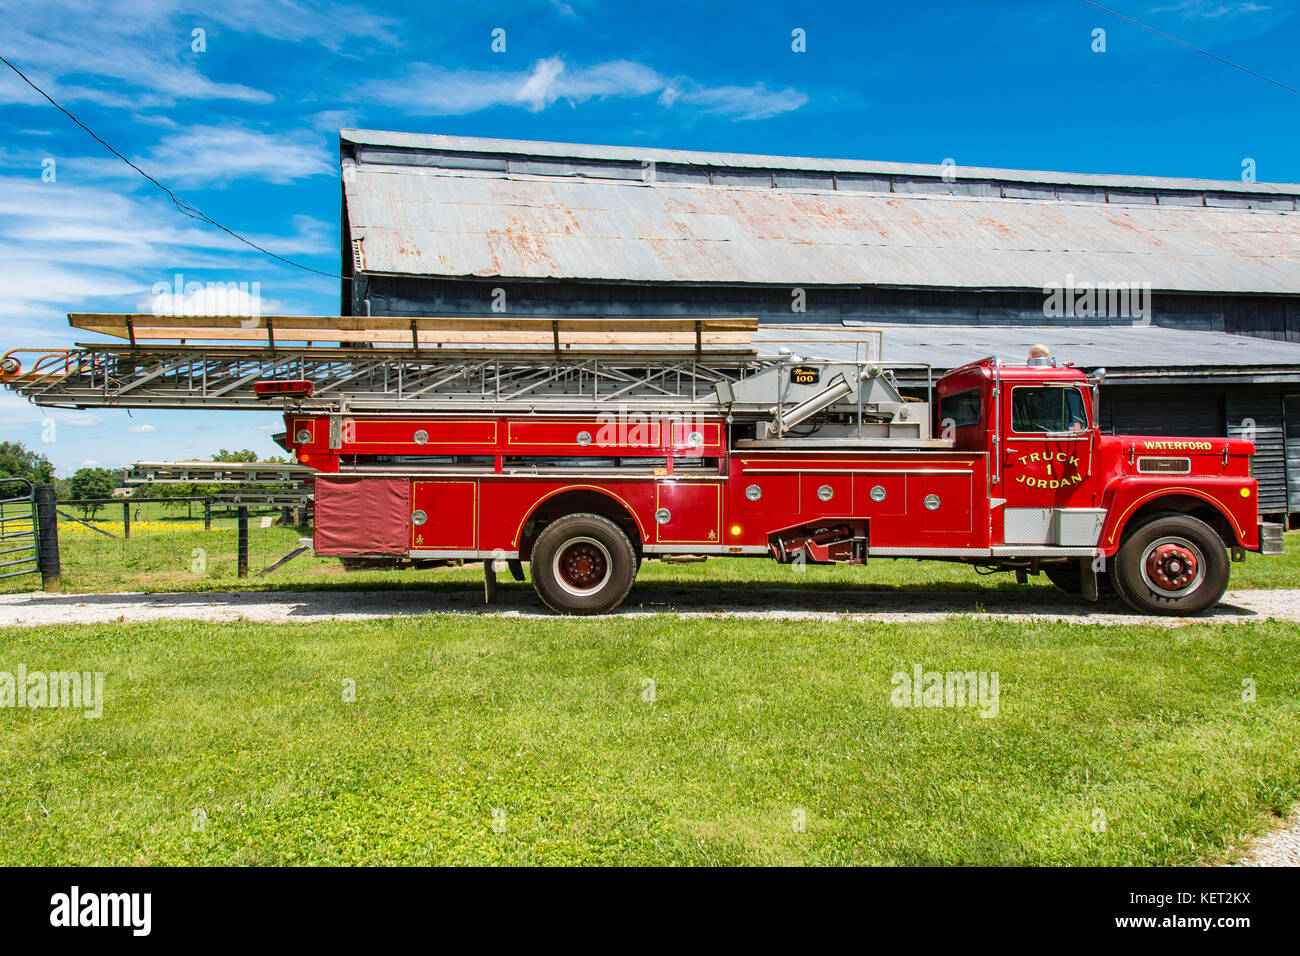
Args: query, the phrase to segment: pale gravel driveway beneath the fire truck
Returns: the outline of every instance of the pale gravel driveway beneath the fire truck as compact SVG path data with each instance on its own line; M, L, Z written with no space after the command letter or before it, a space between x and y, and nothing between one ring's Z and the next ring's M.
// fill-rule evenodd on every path
M136 620L361 620L411 614L552 617L532 589L511 588L484 604L482 591L257 591L216 593L4 594L0 627ZM1300 591L1230 591L1202 618L1148 618L1117 598L1087 604L1053 592L816 591L760 588L637 587L619 615L676 614L789 620L942 620L970 615L1005 620L1071 620L1083 624L1161 624L1196 620L1300 622Z

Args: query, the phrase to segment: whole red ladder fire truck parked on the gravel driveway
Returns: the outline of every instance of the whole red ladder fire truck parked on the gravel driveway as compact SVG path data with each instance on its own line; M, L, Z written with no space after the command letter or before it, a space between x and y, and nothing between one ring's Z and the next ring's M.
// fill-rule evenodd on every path
M1102 434L1104 372L1043 347L933 380L883 362L874 330L742 319L70 319L129 343L10 352L10 388L278 405L316 470L317 554L504 561L520 580L526 562L560 613L614 610L646 558L740 555L956 561L1190 615L1230 558L1282 550L1251 442Z

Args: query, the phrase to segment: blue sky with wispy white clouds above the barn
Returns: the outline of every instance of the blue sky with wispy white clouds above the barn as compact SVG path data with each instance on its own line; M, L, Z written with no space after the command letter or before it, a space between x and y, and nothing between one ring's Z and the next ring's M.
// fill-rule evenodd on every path
M1300 87L1296 0L1105 5ZM339 126L1223 179L1252 159L1260 181L1300 181L1300 96L1080 0L677 9L0 0L0 52L186 202L325 272L339 265ZM181 216L3 72L0 351L72 342L69 311L148 310L176 273L260 282L264 312L338 310L337 280ZM64 475L222 446L274 454L280 427L260 412L49 412L0 395L0 440Z

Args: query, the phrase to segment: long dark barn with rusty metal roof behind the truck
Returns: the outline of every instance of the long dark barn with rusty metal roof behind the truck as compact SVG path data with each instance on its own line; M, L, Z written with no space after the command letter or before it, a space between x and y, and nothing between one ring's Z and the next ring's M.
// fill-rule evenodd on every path
M936 372L1044 343L1300 519L1300 185L342 130L343 315L757 316Z

